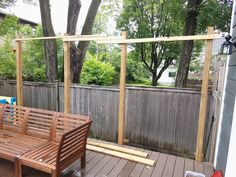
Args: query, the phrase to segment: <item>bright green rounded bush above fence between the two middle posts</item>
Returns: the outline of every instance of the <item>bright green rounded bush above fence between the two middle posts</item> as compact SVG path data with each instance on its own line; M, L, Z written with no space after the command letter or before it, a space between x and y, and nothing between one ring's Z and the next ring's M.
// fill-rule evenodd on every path
M110 63L96 59L86 60L81 73L81 84L111 85L115 68Z

